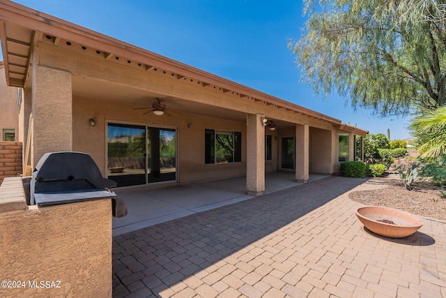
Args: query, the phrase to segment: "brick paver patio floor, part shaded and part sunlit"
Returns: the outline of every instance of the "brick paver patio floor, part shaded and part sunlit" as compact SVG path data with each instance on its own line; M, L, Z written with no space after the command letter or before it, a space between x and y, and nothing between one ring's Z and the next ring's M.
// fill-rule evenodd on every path
M113 238L114 297L446 297L446 223L364 229L328 177Z

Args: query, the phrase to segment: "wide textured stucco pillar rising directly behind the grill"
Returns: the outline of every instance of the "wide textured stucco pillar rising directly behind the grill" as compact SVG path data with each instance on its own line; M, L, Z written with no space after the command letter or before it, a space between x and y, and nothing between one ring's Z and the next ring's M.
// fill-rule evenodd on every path
M71 73L33 64L31 167L43 154L72 151Z

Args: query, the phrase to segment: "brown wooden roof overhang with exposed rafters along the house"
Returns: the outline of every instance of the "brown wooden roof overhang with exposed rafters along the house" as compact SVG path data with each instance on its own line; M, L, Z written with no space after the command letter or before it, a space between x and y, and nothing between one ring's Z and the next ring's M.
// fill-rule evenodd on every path
M43 42L100 57L109 63L123 64L145 72L157 71L170 75L176 80L193 80L202 87L217 89L225 94L236 96L240 100L251 100L285 112L301 114L341 129L345 126L339 119L11 1L0 0L0 24L1 47L8 86L25 87L26 77L32 67L33 47ZM354 131L360 135L367 133L360 128L355 128Z

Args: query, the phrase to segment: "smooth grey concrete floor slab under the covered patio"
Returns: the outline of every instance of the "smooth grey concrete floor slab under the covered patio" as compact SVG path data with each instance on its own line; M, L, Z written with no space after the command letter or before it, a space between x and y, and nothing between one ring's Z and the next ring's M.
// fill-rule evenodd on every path
M329 176L310 174L309 181L326 177ZM302 184L295 181L293 172L266 173L265 181L265 194ZM132 188L116 193L125 200L128 216L113 219L114 236L255 198L246 193L245 176Z

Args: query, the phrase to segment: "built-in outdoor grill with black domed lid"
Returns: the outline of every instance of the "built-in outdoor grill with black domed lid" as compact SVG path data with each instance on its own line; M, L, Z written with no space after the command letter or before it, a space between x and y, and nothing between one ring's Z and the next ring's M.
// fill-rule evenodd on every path
M112 214L127 215L127 207L108 188L116 182L103 178L89 154L61 151L44 154L37 163L30 181L30 204L45 206L88 200L112 199Z

